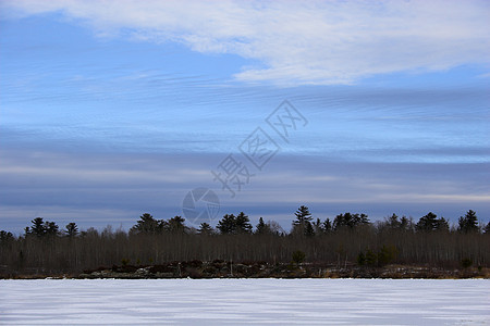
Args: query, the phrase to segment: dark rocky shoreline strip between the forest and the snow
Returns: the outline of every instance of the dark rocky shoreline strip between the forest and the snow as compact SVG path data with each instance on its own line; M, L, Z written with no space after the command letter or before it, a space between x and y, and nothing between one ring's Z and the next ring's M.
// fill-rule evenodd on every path
M113 265L86 269L83 273L15 273L0 275L1 279L489 279L489 267L443 268L393 264L382 267L347 266L311 263L267 264L261 262L232 263L171 262L161 265Z

